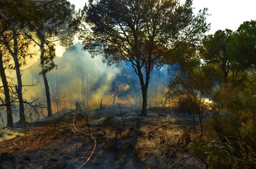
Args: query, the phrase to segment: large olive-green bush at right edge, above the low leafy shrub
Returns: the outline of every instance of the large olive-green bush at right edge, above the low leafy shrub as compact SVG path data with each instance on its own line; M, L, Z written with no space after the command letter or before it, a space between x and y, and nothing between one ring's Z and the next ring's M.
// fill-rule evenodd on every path
M213 116L209 128L220 135L236 136L256 147L255 78L252 75L243 86L228 84L212 94Z

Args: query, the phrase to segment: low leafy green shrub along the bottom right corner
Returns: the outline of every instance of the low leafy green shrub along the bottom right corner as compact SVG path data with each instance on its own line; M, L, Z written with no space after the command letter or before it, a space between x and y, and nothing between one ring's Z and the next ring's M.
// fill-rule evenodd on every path
M206 159L210 168L255 168L256 153L246 143L238 141L234 144L228 140L196 140L189 144L193 154Z

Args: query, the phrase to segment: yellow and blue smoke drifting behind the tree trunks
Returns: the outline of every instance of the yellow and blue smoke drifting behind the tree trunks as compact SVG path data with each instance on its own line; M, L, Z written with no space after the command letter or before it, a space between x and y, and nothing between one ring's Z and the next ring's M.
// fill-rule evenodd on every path
M59 112L63 108L75 108L79 103L82 109L99 108L107 105L124 104L140 108L142 103L140 80L132 66L108 67L100 57L91 58L88 52L82 50L81 43L68 48L62 57L54 59L57 69L47 73L49 82L52 110ZM46 105L44 82L40 72L39 59L30 68L24 70L24 84L32 84L36 80L39 85L24 87L24 98ZM163 106L166 103L166 86L175 77L178 64L152 70L148 86L148 107ZM33 79L33 80L31 80ZM103 105L103 106L102 106ZM18 114L17 108L13 113ZM33 110L26 108L27 117ZM14 121L19 118L15 117ZM5 114L4 114L5 119Z

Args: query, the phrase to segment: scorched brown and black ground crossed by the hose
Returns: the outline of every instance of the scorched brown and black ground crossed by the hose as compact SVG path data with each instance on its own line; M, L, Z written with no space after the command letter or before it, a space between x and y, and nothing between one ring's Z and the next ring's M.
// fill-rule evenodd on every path
M188 156L192 115L171 108L150 108L148 112L148 117L136 112L88 119L83 113L77 115L76 128L90 131L97 140L95 152L83 168L168 168ZM79 168L92 153L93 140L74 130L74 114L65 110L39 126L29 123L26 135L0 142L0 168ZM24 128L20 130L24 133ZM186 168L199 165L200 161L191 159Z

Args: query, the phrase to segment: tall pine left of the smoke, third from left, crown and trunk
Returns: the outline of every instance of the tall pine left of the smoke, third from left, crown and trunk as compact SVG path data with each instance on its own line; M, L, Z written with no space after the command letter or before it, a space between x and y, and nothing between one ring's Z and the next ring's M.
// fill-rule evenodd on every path
M74 31L68 24L74 24L72 20L72 8L66 0L36 1L33 17L29 18L29 30L35 34L24 33L40 47L40 66L45 85L47 98L48 117L52 115L51 97L46 73L56 67L53 61L55 45L53 41L59 41L61 45L68 47L74 40ZM73 6L74 11L74 6ZM74 25L72 25L74 26Z

